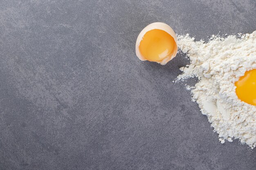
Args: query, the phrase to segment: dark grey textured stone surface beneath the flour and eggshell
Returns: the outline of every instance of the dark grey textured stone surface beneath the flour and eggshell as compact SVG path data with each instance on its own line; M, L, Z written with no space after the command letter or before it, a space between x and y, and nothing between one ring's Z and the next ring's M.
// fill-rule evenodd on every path
M200 40L255 17L254 0L0 0L0 169L255 170L173 84L184 55L135 55L152 22Z

